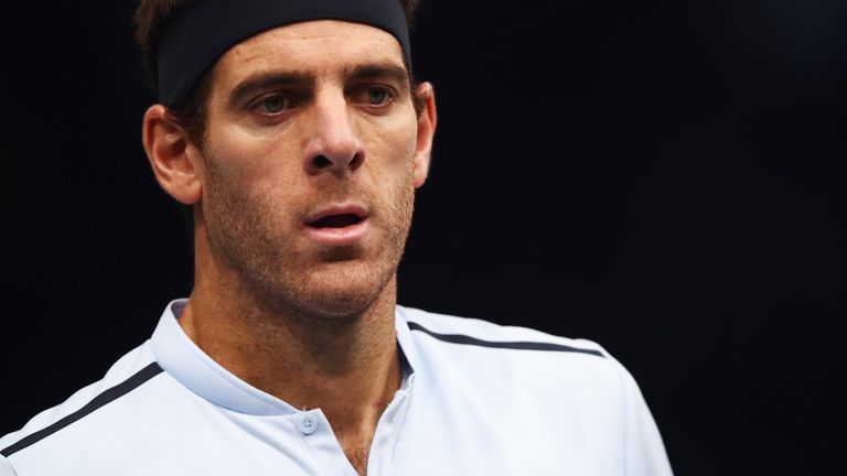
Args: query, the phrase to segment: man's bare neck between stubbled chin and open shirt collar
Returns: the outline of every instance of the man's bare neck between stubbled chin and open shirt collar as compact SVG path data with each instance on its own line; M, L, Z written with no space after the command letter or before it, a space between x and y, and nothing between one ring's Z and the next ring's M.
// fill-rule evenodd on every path
M275 312L238 283L222 284L195 283L179 320L187 336L251 386L298 409L320 408L351 462L364 454L366 465L401 382L396 277L366 312L339 318Z

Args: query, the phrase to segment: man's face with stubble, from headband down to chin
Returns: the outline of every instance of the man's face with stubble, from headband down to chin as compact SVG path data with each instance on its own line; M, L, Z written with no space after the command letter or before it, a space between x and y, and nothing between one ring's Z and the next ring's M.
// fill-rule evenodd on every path
M229 50L213 71L201 226L218 266L264 303L365 311L386 289L424 183L399 44L312 21Z

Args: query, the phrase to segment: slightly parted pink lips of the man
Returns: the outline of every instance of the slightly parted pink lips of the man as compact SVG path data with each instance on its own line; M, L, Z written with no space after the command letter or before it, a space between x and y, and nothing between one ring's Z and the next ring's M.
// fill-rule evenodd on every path
M354 245L364 238L369 213L360 205L331 205L303 219L303 232L310 239L330 246Z

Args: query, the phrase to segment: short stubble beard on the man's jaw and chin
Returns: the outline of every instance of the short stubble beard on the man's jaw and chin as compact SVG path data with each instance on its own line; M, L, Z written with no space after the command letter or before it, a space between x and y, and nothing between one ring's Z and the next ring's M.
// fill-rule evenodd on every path
M255 304L293 318L345 320L364 315L387 290L397 272L411 226L415 188L411 177L393 187L387 203L373 194L364 199L372 210L372 229L379 232L369 248L296 249L300 231L291 226L294 210L285 209L270 194L249 195L230 185L210 162L203 219L211 251L250 293ZM376 225L376 226L374 226ZM321 257L314 262L314 257ZM311 262L310 262L311 260Z

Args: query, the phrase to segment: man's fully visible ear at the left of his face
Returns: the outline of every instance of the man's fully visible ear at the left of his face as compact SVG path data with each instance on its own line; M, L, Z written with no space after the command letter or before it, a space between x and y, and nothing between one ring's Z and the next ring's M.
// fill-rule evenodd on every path
M203 193L200 151L164 106L152 106L144 113L142 141L159 185L182 204L197 203Z

